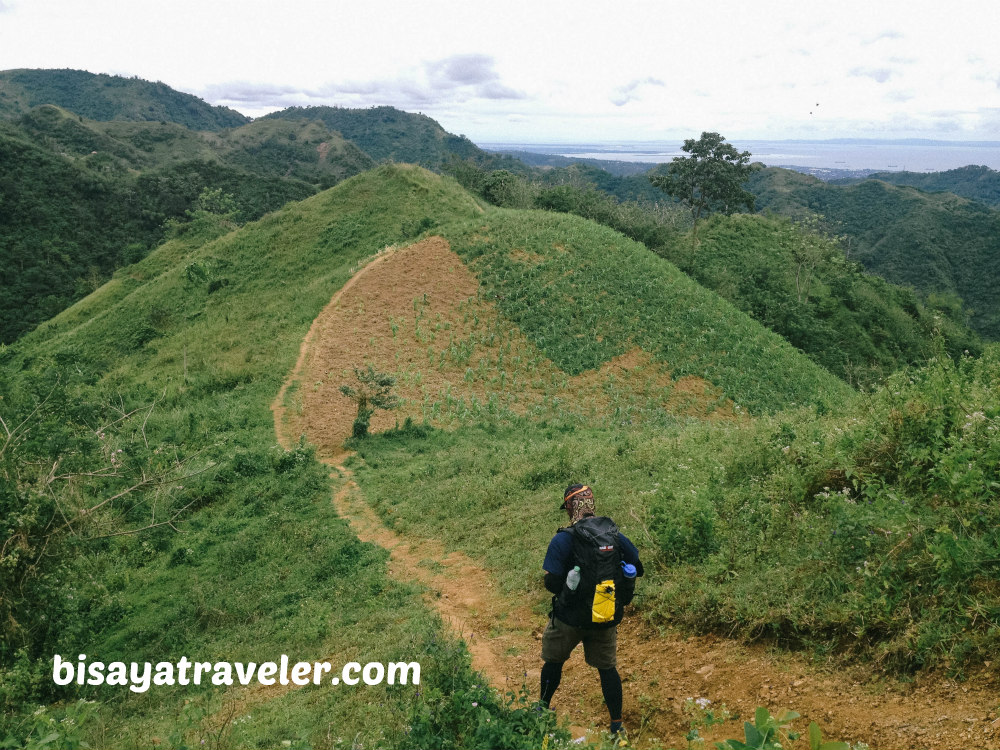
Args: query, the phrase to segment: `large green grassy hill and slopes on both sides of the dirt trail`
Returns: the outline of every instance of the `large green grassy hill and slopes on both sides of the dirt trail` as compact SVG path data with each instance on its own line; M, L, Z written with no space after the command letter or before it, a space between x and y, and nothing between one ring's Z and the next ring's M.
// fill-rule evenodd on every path
M317 334L357 365L394 347L398 360L383 351L401 383L450 385L411 405L427 407L425 424L355 445L359 482L386 523L465 551L541 606L535 558L557 523L551 500L583 478L641 540L653 575L638 607L656 623L881 654L893 669L988 658L1000 611L989 584L995 353L959 365L940 356L858 399L612 230L484 207L452 180L387 165L241 228L203 212L0 350L0 516L15 540L0 545L4 734L24 742L40 703L38 726L67 711L79 719L78 697L99 702L85 709L97 719L59 731L104 747L316 745L330 722L356 742L400 747L408 731L459 747L496 746L494 731L537 746L552 731L479 689L417 588L390 580L386 553L336 517L342 480L312 446L276 444L269 404L313 321L370 258L430 237L457 260L433 273L404 266L400 278L477 279L451 312L434 293L393 287L398 306L356 297L341 304L350 327ZM639 377L608 368L633 350ZM577 399L574 378L595 370L611 376L596 381L608 414ZM657 407L649 394L669 389L664 372L715 388L715 418ZM335 394L342 375L303 380L288 406ZM464 385L487 389L484 400L463 402ZM538 409L497 406L533 389ZM134 696L57 688L54 653L419 655L425 687Z

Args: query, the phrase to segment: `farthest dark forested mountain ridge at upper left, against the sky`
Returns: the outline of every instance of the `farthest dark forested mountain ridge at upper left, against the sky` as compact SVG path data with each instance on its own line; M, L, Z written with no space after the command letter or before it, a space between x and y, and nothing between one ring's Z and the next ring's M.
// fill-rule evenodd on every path
M227 107L139 78L83 70L0 71L0 117L16 117L40 104L56 104L91 120L175 122L192 130L222 130L250 122Z

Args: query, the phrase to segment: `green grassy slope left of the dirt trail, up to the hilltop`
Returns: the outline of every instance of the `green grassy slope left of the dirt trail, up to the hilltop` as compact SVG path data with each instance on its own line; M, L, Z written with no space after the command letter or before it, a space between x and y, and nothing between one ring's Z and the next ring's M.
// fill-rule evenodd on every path
M130 700L57 688L54 653L259 662L422 652L434 626L419 592L392 584L384 553L336 517L329 469L311 450L274 445L267 404L358 263L406 239L403 224L478 208L422 170L385 167L343 187L223 236L185 233L0 350L0 737L21 726L23 741L40 702L78 697L101 701L101 724L122 746L169 736L181 700L206 709L202 728L212 722L197 690ZM230 283L210 294L219 278ZM153 527L154 506L157 524L183 533ZM53 534L65 519L76 533ZM367 741L401 731L411 699L323 691L318 712L306 710L315 692L287 702L316 744L327 730L317 716ZM369 700L391 708L359 718ZM281 710L234 728L234 741L279 744Z

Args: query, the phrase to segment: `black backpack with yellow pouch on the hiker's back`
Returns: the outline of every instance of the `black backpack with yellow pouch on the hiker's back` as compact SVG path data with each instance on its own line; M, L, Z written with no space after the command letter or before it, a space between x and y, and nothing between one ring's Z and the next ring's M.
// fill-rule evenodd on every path
M575 627L614 627L635 591L635 581L622 572L624 550L618 526L605 516L588 516L559 531L573 536L569 569L580 566L580 584L575 591L563 585L553 613Z

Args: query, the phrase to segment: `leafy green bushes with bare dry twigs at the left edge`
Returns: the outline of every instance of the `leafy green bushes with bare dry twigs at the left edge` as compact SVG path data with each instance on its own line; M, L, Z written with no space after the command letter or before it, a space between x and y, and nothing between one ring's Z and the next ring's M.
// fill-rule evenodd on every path
M169 442L150 447L155 402L96 402L78 380L48 379L6 380L0 401L0 664L37 657L59 637L60 619L76 614L66 577L79 546L176 528L197 502L178 483L212 468L177 459ZM0 690L0 699L11 695Z

